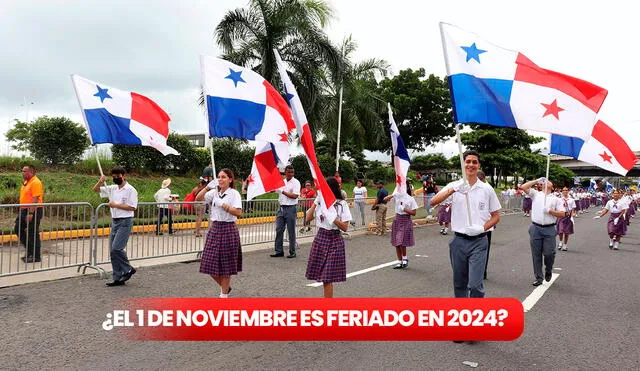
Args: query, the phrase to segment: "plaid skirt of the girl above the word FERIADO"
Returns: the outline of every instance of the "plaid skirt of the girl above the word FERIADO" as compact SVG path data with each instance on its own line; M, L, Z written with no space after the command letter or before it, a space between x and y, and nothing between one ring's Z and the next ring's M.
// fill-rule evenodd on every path
M339 230L318 228L309 253L306 277L324 283L347 280L344 239Z

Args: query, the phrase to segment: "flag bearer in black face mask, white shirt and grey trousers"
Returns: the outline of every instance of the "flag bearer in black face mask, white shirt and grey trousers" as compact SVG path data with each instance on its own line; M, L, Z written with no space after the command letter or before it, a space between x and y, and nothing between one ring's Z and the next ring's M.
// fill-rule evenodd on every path
M111 170L113 185L104 185L106 176L101 176L93 191L100 193L100 197L109 198L111 208L111 234L109 244L111 249L111 267L113 281L107 286L122 286L136 269L129 264L129 258L124 251L133 229L133 215L138 207L138 191L127 182L126 171L122 166Z

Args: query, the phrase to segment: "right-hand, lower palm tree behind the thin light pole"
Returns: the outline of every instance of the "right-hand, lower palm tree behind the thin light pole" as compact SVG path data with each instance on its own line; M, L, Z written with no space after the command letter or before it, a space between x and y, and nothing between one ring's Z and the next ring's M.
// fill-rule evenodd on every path
M331 74L327 94L322 98L322 121L319 128L331 143L335 153L338 136L338 114L340 110L340 89L342 96L342 117L340 137L342 148L376 147L383 136L388 135L386 122L381 122L386 112L386 102L378 94L376 77L386 76L389 64L381 59L367 59L359 63L350 61L350 55L357 49L351 36L343 40L341 51L343 63Z

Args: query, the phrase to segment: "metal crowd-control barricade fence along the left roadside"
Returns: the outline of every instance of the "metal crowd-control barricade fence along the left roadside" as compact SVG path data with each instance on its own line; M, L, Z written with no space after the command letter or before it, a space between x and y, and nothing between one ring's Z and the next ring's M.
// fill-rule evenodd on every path
M415 196L419 207L422 195ZM375 198L347 199L353 221L348 232L374 230ZM317 232L315 220L304 222L313 200L298 200L296 240L307 242ZM28 207L37 206L29 219ZM208 205L202 202L158 204L140 202L134 213L127 255L132 261L182 254L197 254L205 245L209 228ZM280 205L273 200L242 201L238 218L242 246L273 243ZM394 201L387 203L387 219L393 219ZM0 205L0 277L77 267L101 274L101 265L111 263L111 214L108 204L93 208L86 202ZM387 229L391 226L387 222ZM345 234L348 236L348 232ZM288 232L284 233L285 247Z

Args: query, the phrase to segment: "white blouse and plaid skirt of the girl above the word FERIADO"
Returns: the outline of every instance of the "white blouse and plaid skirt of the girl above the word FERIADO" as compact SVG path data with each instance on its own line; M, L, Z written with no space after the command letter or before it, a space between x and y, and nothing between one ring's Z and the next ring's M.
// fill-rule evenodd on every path
M341 221L352 220L346 201L337 200L333 207ZM333 224L333 220L325 218L317 203L314 218L318 233L311 245L305 276L307 279L323 283L344 282L347 280L347 265L342 233L338 226Z

